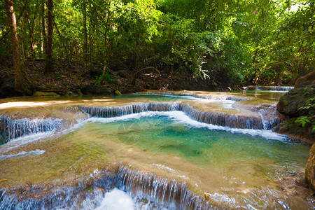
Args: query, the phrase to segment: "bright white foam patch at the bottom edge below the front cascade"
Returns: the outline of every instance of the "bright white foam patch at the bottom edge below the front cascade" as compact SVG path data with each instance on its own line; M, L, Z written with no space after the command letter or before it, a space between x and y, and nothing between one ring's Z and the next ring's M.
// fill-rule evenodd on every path
M108 193L105 193L105 197L102 203L95 210L133 210L134 201L132 197L127 195L123 190L114 188Z

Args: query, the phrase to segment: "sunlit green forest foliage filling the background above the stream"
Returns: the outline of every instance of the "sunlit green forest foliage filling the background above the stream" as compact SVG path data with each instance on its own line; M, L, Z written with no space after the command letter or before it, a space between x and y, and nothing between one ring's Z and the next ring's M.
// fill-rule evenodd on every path
M120 62L240 87L292 85L315 66L313 0L14 0L14 12L22 55L50 61L47 71L66 59L104 75ZM0 1L0 55L10 43Z

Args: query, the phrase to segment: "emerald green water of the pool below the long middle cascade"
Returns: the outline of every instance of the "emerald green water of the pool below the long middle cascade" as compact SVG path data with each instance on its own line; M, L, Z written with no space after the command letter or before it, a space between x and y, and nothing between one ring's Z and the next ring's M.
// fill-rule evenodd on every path
M182 120L182 115L179 111L151 113L130 119L117 118L111 123L106 123L107 119L95 119L95 123L88 123L83 129L96 138L119 141L151 153L179 155L202 167L251 163L260 175L269 179L288 176L302 169L307 160L309 146L281 135L278 139L269 139L263 132L261 136L253 136L225 131L224 127L213 130L193 120L183 123L186 119Z

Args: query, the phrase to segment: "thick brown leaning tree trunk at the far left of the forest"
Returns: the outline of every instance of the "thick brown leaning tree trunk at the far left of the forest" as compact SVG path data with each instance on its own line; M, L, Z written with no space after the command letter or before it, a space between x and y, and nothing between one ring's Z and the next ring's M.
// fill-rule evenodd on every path
M10 25L10 34L12 41L13 52L13 67L15 76L15 91L22 93L23 95L31 94L33 90L33 84L28 79L25 71L24 57L20 43L18 39L18 31L16 27L16 18L13 10L13 0L5 0L6 14L8 15L8 22Z

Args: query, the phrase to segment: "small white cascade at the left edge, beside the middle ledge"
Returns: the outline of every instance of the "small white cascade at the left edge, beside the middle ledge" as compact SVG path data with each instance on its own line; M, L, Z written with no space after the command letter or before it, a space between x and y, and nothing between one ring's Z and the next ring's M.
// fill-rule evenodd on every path
M6 143L29 134L59 130L61 123L62 119L54 118L29 120L28 118L13 119L8 116L0 116L0 141Z

